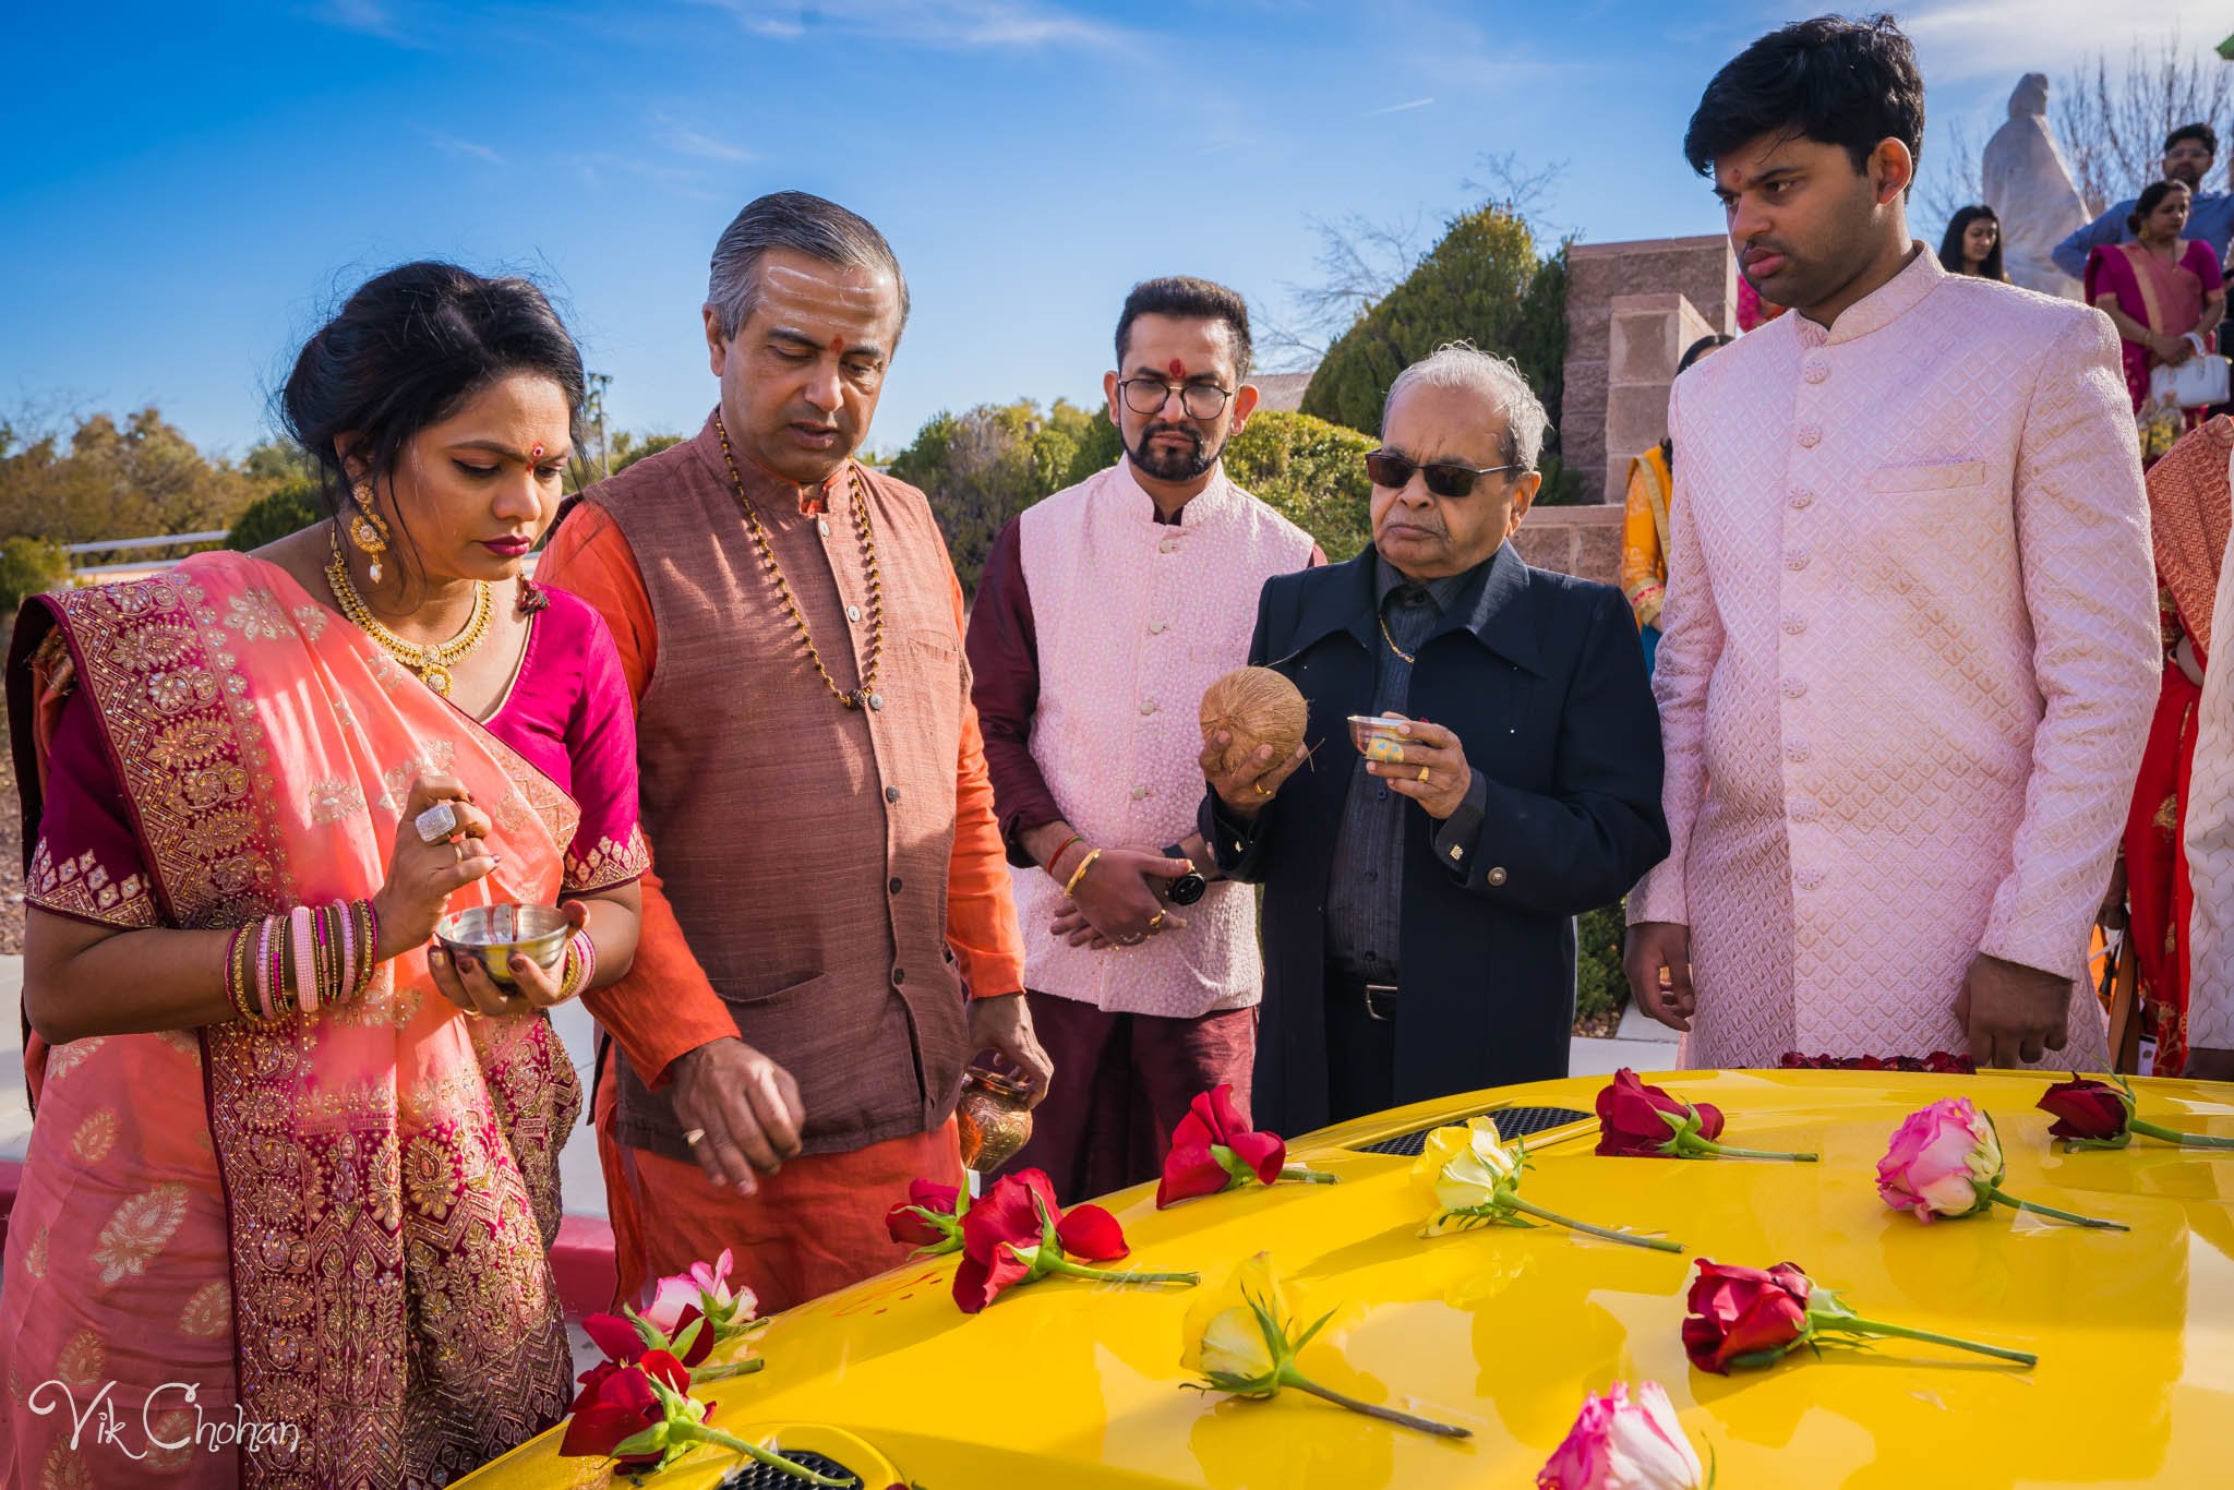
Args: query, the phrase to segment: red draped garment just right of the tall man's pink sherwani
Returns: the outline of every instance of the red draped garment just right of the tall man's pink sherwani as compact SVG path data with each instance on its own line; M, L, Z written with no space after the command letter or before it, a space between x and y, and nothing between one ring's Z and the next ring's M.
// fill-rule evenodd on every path
M2180 1070L2187 1061L2187 927L2196 891L2180 844L2200 701L2203 690L2167 663L2125 822L2127 936L2140 970L2142 1012L2156 1034L2156 1070Z

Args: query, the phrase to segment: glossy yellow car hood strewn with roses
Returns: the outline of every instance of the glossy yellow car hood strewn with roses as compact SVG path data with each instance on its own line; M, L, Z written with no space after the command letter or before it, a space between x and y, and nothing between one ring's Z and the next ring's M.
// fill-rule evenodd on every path
M1727 1115L1727 1144L1812 1148L1821 1164L1595 1157L1602 1079L1421 1104L1289 1144L1338 1184L1278 1184L1155 1209L1108 1197L1133 1255L1215 1284L1271 1251L1323 1385L1472 1430L1430 1439L1282 1392L1188 1389L1188 1289L1048 1278L965 1316L956 1258L900 1267L775 1318L766 1369L699 1392L717 1425L867 1490L1061 1486L1533 1486L1586 1389L1658 1381L1722 1490L1789 1486L2234 1483L2234 1153L2136 1139L2051 1148L2033 1074L1687 1072L1658 1077ZM2234 1088L2138 1081L2140 1117L2234 1135ZM2125 1222L2087 1231L1995 1206L1919 1224L1877 1195L1901 1117L1970 1097L1999 1126L2013 1195ZM1441 1124L1490 1112L1528 1135L1521 1195L1564 1215L1660 1231L1680 1255L1559 1229L1483 1226L1425 1240L1412 1155ZM898 1195L894 1200L900 1200ZM1063 1197L1066 1202L1072 1197ZM1798 1349L1709 1376L1680 1327L1693 1260L1798 1262L1861 1316L2037 1351L2022 1369L1937 1345ZM476 1490L601 1486L605 1461L558 1459L558 1432L474 1474ZM842 1465L842 1470L833 1468ZM739 1468L697 1448L652 1490ZM744 1465L751 1470L751 1465ZM764 1470L735 1486L793 1486Z

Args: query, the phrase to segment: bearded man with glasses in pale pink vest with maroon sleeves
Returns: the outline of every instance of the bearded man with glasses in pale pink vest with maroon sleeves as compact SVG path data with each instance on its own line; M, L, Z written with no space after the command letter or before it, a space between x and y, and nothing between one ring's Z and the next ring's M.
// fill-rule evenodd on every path
M1249 1110L1256 896L1213 885L1173 909L1171 885L1215 873L1193 833L1195 706L1249 655L1264 581L1325 556L1226 478L1226 438L1258 398L1247 375L1240 295L1133 286L1101 380L1124 458L1010 523L970 610L1032 1028L1063 1070L1014 1162L1066 1197L1153 1177L1186 1104L1220 1081Z

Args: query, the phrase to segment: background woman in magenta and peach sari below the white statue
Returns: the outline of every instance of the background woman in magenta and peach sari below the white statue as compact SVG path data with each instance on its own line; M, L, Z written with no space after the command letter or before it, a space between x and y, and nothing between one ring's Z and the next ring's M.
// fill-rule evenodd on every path
M2140 413L2149 402L2149 373L2156 366L2178 366L2196 355L2189 335L2216 348L2218 322L2227 313L2225 273L2218 255L2203 239L2183 239L2192 197L2183 181L2158 181L2140 194L2127 226L2131 243L2095 248L2087 257L2087 304L2118 326L2125 351L2125 389ZM2156 449L2142 442L2142 456L2156 458L2171 447L2180 429L2203 422L2203 411L2169 411ZM2145 427L2147 429L2147 427Z

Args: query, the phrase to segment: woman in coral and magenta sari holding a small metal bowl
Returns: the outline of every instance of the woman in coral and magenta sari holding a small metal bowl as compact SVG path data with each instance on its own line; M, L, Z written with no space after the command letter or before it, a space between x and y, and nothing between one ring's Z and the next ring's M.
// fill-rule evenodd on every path
M391 270L284 393L331 525L25 608L7 1486L436 1486L563 1416L543 1007L648 860L612 639L521 579L581 400L534 286ZM512 994L429 949L500 900L579 927Z

